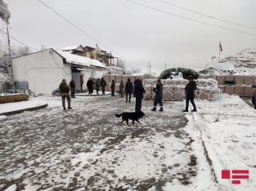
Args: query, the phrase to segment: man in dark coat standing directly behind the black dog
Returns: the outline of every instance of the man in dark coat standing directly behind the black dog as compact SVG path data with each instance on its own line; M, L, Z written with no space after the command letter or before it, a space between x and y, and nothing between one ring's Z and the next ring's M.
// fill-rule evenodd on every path
M142 86L143 78L138 78L134 82L134 92L133 96L136 98L135 111L141 111L141 101L143 99L143 93L145 93L145 89Z

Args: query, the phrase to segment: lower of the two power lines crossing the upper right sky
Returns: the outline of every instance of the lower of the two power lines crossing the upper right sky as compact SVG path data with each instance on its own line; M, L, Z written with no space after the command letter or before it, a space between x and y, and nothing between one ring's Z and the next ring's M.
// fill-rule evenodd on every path
M130 0L125 0L125 1L132 2L132 1L130 1ZM172 14L172 13L169 13L169 12L166 12L166 11L161 11L161 10L155 9L155 8L153 8L153 7L148 7L148 6L146 6L146 5L142 5L142 4L137 3L137 2L132 2L132 3L137 4L137 5L139 5L139 6L142 6L142 7L146 7L146 8L152 9L152 10L154 10L154 11L163 12L163 13L168 14L168 15L170 15L170 16L177 16L177 15L175 15L175 14ZM177 17L182 18L182 19L185 19L185 20L192 20L192 19L186 18L186 17L184 17L184 16L177 16ZM245 32L239 31L239 30L234 30L234 29L229 29L229 28L221 27L221 26L218 26L218 25L215 25L215 24L204 23L204 22L199 21L199 20L192 20L192 21L197 22L197 23L201 23L201 24L207 24L207 25L210 25L210 26L218 27L218 28L221 28L221 29L227 29L227 30L235 31L235 32L237 32L237 33L245 33ZM246 33L246 34L256 36L256 34L254 34L254 33Z

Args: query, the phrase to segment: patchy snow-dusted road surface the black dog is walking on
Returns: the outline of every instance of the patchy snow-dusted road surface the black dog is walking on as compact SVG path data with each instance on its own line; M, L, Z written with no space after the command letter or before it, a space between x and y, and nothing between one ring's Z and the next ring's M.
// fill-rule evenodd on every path
M80 97L66 111L60 98L41 100L50 107L1 121L0 190L162 190L197 174L184 102L154 113L143 101L142 126L121 127L115 113L133 112L133 99Z

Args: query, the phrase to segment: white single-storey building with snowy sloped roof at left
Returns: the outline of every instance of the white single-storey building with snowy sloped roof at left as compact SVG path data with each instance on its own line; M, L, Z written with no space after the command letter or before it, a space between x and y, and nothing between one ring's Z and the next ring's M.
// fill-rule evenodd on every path
M88 78L101 78L106 66L97 60L76 56L67 51L47 49L12 60L14 80L27 81L35 95L52 95L62 78L70 82L74 78L75 89L80 90L80 75L83 74L83 90Z

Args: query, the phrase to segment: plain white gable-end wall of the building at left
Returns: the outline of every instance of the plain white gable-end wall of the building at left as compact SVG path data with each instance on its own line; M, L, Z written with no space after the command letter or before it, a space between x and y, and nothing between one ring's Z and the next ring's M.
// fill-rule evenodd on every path
M52 95L62 78L71 80L70 64L63 64L62 57L49 50L32 53L12 60L15 81L28 81L35 95Z

